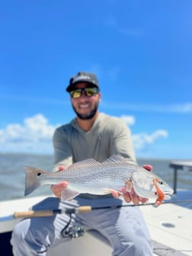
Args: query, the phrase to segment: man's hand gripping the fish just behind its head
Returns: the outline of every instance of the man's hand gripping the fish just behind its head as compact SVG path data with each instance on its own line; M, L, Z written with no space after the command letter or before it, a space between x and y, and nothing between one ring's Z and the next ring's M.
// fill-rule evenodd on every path
M142 165L142 167L147 171L152 171L152 165ZM127 192L127 187L129 187L130 192ZM118 194L117 191L114 191L112 194L116 198L120 197L120 194ZM148 198L138 197L136 195L131 181L127 181L126 186L122 188L122 195L126 203L130 203L132 201L134 204L139 204L139 202L146 203L148 201Z

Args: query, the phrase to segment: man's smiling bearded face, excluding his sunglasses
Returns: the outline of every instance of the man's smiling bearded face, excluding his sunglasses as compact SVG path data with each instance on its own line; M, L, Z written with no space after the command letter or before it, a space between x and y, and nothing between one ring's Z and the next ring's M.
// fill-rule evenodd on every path
M75 85L75 89L79 88L88 88L91 85L88 83L79 83ZM92 96L86 96L85 91L82 91L82 95L79 98L72 98L72 108L75 111L75 114L82 119L88 120L94 117L98 111L98 104L101 99L101 93L98 92Z

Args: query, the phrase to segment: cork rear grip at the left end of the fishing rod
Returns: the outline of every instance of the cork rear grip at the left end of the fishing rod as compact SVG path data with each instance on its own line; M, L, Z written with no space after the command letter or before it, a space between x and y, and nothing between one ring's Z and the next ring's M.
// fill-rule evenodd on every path
M27 212L15 212L14 219L53 216L53 210L29 210Z

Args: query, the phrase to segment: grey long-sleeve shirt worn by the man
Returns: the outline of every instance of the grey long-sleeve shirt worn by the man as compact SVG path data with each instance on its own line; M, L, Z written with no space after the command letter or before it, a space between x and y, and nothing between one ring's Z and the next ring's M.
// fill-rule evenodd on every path
M59 165L69 166L87 158L104 162L110 155L122 155L136 162L130 129L120 118L106 114L99 114L87 132L78 126L76 119L60 126L54 133L53 147L53 171Z

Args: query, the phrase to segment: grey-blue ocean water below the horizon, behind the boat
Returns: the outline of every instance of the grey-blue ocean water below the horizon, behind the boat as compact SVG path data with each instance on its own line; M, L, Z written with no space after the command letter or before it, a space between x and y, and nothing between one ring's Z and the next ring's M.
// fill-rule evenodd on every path
M169 168L171 161L172 159L137 159L139 165L152 165L153 172L173 187L174 171ZM0 153L0 200L24 198L24 165L51 171L53 168L53 156ZM178 188L192 190L191 171L178 171ZM51 194L50 185L47 185L40 187L27 197Z

